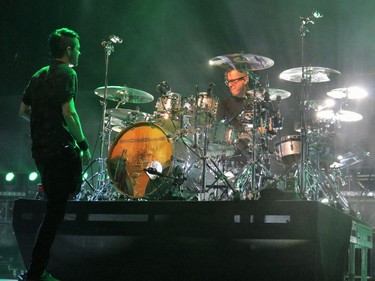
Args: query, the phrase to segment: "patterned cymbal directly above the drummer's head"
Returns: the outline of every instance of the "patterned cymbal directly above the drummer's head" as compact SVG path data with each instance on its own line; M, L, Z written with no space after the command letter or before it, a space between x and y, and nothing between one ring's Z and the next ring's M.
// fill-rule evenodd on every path
M229 54L217 56L209 60L210 65L223 67L247 68L246 70L263 70L274 65L274 61L263 56L253 54Z

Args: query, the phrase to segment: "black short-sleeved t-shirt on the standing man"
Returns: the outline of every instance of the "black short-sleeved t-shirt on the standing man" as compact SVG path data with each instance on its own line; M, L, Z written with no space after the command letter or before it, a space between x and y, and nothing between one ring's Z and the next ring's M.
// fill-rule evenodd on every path
M33 153L50 153L73 141L62 114L62 105L75 99L77 86L74 69L60 61L53 61L32 76L22 101L31 106Z

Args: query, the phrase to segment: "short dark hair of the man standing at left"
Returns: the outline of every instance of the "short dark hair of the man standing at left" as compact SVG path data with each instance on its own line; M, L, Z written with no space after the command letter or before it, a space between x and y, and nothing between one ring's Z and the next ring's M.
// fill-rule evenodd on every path
M50 55L53 58L63 57L66 48L75 48L75 38L79 39L78 33L65 27L53 31L48 38Z

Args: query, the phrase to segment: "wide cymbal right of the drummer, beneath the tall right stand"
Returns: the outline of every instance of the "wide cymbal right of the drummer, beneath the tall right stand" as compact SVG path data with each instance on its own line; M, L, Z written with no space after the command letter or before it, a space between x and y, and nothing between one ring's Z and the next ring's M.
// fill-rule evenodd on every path
M340 74L339 71L326 67L305 67L305 78L311 77L311 83L329 82ZM302 82L302 67L291 68L281 72L280 79L289 82Z

